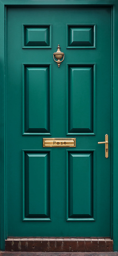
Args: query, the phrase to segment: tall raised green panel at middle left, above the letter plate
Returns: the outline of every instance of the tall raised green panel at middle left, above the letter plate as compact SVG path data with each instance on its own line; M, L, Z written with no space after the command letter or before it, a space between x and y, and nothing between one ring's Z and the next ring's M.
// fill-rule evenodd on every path
M23 65L23 135L50 135L50 65Z

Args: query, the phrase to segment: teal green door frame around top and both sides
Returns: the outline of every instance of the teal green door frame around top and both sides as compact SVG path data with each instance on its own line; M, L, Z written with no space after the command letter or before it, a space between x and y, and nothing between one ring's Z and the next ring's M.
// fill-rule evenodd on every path
M112 79L111 79L111 236L113 250L118 251L118 0L0 0L0 249L5 250L7 239L7 160L6 160L6 7L23 6L80 6L111 7L112 22ZM107 107L106 107L107 111ZM112 171L113 170L113 171Z

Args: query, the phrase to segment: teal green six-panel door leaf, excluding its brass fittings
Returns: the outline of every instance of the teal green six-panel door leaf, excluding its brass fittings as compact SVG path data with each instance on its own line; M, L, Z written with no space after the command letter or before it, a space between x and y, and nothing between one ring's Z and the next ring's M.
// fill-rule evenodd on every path
M8 236L110 237L111 9L8 8L6 92Z

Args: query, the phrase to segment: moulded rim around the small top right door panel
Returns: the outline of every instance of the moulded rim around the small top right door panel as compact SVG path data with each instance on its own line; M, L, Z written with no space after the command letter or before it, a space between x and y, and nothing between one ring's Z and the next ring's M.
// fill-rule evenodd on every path
M93 40L94 40L94 43L93 43L93 46L68 46L68 27L69 26L93 26ZM66 24L66 49L78 49L78 48L85 48L85 49L95 49L96 48L96 24Z

